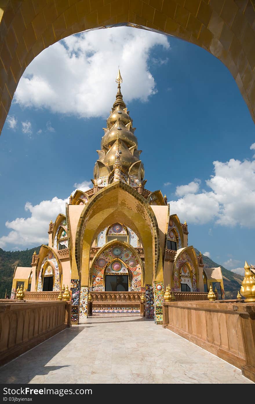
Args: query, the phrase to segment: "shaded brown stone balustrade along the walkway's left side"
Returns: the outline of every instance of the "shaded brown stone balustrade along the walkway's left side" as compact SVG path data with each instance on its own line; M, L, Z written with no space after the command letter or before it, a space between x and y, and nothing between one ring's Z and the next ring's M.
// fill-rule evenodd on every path
M71 303L0 302L0 365L70 327Z

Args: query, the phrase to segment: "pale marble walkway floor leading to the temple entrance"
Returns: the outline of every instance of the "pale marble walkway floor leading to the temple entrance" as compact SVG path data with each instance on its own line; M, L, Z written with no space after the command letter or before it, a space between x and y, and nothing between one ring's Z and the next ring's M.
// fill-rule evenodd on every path
M252 383L137 315L88 318L0 368L0 383Z

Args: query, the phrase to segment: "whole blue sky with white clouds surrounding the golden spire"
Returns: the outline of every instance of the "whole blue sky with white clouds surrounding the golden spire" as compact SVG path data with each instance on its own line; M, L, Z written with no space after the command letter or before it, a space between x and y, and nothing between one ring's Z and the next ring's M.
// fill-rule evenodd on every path
M46 242L77 184L91 187L118 64L147 189L186 219L190 245L228 269L254 263L254 124L232 75L196 45L126 27L69 37L25 71L0 137L0 247Z

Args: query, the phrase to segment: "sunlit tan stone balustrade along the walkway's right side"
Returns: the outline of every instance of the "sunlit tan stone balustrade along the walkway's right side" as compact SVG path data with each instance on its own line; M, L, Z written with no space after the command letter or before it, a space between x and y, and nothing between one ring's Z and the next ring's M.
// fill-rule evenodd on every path
M255 381L255 303L163 303L163 327L240 368Z

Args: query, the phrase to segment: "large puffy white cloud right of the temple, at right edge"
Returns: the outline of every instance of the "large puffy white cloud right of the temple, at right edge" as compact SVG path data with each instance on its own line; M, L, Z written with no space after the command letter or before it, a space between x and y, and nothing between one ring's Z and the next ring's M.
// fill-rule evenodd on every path
M186 185L187 193L181 188L185 186L177 187L177 194L183 197L169 202L171 213L189 223L214 220L225 226L255 227L255 160L230 159L213 165L214 175L206 181L211 191L190 194L190 184Z

